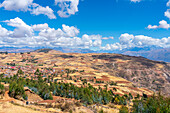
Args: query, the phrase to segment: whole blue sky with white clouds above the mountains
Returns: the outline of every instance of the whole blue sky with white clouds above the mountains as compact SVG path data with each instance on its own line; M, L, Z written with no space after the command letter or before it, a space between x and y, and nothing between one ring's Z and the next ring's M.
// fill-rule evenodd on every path
M170 0L0 0L0 47L170 47Z

